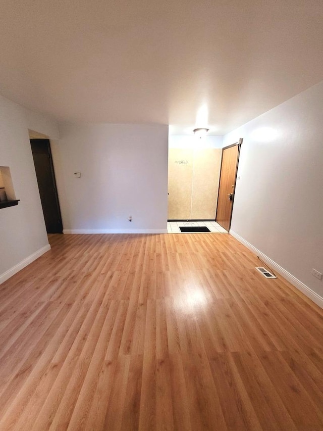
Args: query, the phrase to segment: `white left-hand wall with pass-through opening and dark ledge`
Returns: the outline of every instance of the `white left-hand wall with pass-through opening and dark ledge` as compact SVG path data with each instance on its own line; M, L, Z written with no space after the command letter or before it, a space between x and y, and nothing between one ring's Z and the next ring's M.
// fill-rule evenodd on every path
M57 124L0 97L0 166L9 166L18 206L0 209L0 282L49 249L28 128L58 136ZM30 119L32 118L32 121Z

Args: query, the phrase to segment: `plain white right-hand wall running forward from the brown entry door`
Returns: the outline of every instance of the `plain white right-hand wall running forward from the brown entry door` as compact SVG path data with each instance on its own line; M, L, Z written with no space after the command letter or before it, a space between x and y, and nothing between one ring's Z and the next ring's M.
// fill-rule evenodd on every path
M311 275L323 272L323 81L228 133L224 146L239 137L231 230L323 298Z

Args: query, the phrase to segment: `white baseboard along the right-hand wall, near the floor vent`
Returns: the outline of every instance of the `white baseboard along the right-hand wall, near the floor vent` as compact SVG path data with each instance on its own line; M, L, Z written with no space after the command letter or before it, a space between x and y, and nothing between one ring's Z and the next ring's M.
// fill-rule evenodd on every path
M248 243L246 240L242 238L242 236L238 235L238 233L230 230L230 235L236 238L239 243L246 246L249 250L259 256L264 262L270 265L273 269L275 269L279 274L281 274L287 281L289 281L296 289L301 291L304 295L306 295L309 299L311 299L315 304L319 307L323 308L323 298L320 297L316 292L312 291L306 284L300 281L298 278L294 277L291 273L286 271L286 269L282 268L278 263L274 262L272 259L261 253L260 250L256 249L252 244Z

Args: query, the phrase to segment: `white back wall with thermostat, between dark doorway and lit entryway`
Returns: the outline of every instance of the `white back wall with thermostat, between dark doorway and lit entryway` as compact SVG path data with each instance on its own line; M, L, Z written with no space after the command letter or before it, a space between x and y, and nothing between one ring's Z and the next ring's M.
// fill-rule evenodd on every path
M61 123L60 137L52 152L64 232L167 231L168 126Z

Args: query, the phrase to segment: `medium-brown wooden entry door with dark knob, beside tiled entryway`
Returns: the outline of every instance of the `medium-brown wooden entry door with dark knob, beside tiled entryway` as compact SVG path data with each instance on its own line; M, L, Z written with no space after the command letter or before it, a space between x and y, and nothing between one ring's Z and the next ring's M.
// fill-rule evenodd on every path
M239 158L239 145L223 149L216 222L229 231Z

